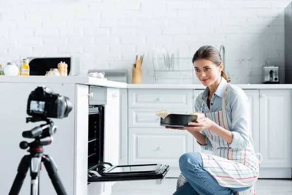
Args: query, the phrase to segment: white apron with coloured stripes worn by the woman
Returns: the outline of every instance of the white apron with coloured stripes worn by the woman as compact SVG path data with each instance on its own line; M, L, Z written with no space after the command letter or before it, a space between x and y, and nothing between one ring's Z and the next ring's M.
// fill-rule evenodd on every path
M222 98L222 110L212 113L205 113L205 117L211 119L220 127L231 131L231 120L226 112L226 89ZM203 104L201 112L203 109ZM239 192L239 195L255 195L255 183L258 178L259 167L254 146L249 142L245 149L232 149L229 143L212 131L205 129L201 132L212 144L212 155L201 153L203 169L209 172L220 186L227 188L242 188L252 186L246 191ZM259 154L259 153L258 153ZM260 155L260 154L259 154ZM181 174L177 180L177 189L187 180Z

